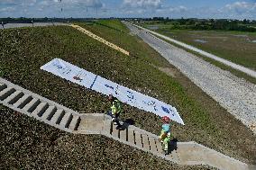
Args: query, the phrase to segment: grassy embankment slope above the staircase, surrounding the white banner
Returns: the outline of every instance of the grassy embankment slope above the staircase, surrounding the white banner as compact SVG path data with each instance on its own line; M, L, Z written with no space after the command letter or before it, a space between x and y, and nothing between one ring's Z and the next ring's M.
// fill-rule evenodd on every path
M78 24L128 50L131 56L125 56L68 26L4 30L0 31L3 42L0 44L0 67L6 68L4 77L78 112L104 112L108 107L104 95L40 69L51 59L62 58L177 107L186 123L186 126L174 123L173 133L178 140L195 140L231 157L255 163L256 154L252 147L256 145L256 139L250 130L186 77L181 74L171 77L160 71L160 67L173 67L142 40L130 35L121 22L103 23L115 29L101 24ZM194 92L194 89L197 90ZM133 119L136 126L155 134L160 132L161 122L154 114L128 105L124 110L123 119ZM242 139L246 139L246 145Z

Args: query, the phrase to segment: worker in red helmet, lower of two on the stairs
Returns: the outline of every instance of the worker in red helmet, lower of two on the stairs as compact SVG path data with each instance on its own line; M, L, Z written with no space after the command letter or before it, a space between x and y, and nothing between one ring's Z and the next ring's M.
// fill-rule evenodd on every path
M162 150L165 155L169 154L169 142L171 139L170 133L170 119L168 116L162 117L163 125L161 126L161 132L159 140L162 144Z

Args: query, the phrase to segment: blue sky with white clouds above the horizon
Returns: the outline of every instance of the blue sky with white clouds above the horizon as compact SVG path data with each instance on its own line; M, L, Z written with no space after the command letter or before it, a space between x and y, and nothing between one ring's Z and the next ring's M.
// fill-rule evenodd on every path
M156 16L256 20L256 0L0 0L0 18Z

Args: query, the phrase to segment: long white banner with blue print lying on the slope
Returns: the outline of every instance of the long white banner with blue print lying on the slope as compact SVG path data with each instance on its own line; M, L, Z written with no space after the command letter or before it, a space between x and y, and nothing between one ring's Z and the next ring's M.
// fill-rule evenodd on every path
M113 94L114 97L139 109L153 112L159 116L168 116L172 121L177 121L184 125L175 107L150 96L138 93L122 85L118 85L101 76L96 76L85 69L69 64L62 59L55 58L41 69L48 71L56 76L60 76L78 85L95 90L101 94Z

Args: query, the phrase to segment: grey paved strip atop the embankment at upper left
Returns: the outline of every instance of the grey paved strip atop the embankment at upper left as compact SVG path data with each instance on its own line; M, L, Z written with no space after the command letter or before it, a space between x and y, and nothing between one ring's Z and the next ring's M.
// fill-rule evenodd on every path
M53 26L53 25L67 25L67 23L62 23L62 22L34 22L33 23L34 27ZM32 23L6 23L4 27L5 29L32 27ZM3 29L3 26L1 24L0 24L0 29Z

